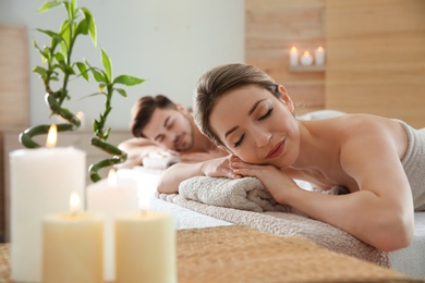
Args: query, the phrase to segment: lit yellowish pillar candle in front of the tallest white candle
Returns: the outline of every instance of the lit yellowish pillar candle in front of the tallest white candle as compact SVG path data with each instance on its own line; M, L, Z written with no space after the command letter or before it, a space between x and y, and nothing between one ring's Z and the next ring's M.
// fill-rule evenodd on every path
M70 212L42 221L42 282L102 283L104 219L80 212L80 198L71 195Z

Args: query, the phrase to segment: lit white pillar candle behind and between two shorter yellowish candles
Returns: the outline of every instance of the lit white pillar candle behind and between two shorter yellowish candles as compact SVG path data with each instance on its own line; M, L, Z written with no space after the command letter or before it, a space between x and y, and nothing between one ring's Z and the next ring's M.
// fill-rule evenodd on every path
M116 280L113 217L138 210L136 183L129 179L118 179L116 171L109 172L107 180L87 186L87 210L105 216L104 276L107 282Z

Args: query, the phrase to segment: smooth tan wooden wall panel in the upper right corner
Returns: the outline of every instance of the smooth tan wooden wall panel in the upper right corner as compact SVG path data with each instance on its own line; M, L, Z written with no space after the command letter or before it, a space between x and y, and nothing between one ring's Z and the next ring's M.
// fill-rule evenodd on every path
M424 127L425 1L326 4L326 108Z

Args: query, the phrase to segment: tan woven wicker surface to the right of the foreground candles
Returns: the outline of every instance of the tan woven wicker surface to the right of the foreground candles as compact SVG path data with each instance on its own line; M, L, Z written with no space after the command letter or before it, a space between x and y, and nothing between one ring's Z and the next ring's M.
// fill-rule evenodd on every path
M246 226L178 231L178 270L179 282L421 282L301 236Z

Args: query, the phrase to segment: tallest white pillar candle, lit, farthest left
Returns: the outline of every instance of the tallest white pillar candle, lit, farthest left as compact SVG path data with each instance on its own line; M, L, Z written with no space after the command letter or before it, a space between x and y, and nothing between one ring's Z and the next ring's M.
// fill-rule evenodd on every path
M41 219L68 210L71 192L84 193L85 152L72 147L54 148L54 130L52 126L48 135L47 146L51 148L10 153L13 281L41 281Z

